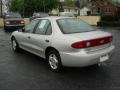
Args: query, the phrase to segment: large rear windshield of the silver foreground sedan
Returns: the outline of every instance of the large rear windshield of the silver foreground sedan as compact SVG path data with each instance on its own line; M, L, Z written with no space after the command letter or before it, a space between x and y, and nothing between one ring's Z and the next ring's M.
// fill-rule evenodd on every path
M57 23L64 34L90 32L94 30L90 25L76 18L58 19Z

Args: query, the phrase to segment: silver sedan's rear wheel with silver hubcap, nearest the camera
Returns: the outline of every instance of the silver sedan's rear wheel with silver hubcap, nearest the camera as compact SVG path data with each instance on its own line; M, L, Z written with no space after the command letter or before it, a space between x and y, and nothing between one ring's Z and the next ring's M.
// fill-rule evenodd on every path
M62 69L62 63L59 53L56 50L51 50L48 53L48 64L52 71L59 72Z

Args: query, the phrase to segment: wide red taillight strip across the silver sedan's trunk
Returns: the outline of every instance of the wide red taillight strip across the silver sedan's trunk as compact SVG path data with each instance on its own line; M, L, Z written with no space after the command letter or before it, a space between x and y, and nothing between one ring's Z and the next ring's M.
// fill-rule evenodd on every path
M88 47L94 47L94 46L106 44L111 41L112 41L112 36L108 36L108 37L103 37L103 38L75 42L71 45L71 47L76 48L76 49L88 48Z

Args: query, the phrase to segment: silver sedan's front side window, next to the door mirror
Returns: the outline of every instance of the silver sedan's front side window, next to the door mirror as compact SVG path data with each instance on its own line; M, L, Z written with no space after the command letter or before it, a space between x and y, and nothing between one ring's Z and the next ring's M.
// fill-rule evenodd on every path
M38 20L33 20L29 24L25 25L25 32L32 33L37 23L38 23Z

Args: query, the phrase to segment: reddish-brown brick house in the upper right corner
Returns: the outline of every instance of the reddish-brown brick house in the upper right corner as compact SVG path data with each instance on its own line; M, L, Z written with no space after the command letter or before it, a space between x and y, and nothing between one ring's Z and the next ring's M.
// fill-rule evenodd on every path
M92 12L92 15L100 15L103 13L106 15L118 16L120 15L120 7L117 6L115 3L112 3L107 0L98 1L98 2L92 3L91 12Z

